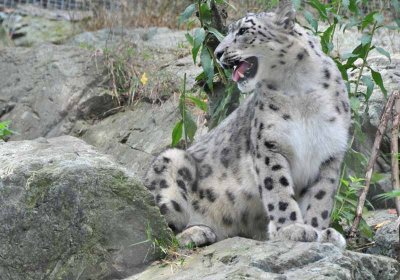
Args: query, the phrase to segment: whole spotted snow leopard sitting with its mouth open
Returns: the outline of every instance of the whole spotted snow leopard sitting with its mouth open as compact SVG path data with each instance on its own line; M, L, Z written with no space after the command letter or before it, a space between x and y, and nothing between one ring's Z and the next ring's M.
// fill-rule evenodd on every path
M216 49L223 67L256 57L251 93L187 151L170 149L146 185L183 243L231 236L333 242L329 228L350 113L335 63L284 5L248 14ZM207 238L210 237L210 238Z

